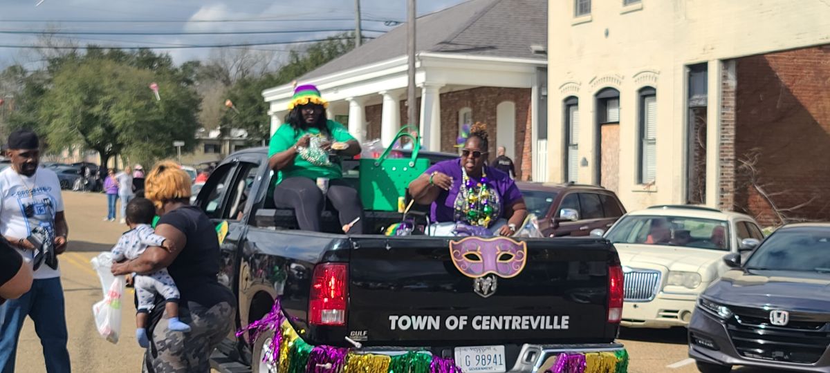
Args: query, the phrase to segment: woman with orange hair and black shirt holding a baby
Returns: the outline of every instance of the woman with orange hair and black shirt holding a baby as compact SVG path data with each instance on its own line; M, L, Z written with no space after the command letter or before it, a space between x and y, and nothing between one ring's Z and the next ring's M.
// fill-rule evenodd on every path
M207 373L210 354L232 331L237 308L233 293L217 280L222 258L216 227L201 209L190 206L190 177L178 163L157 164L144 186L144 196L161 216L155 233L170 242L169 250L149 247L137 259L113 264L112 273L148 274L166 267L181 293L179 318L191 327L187 333L170 330L168 319L161 317L164 307L155 307L144 371ZM157 304L162 302L164 297L156 297Z

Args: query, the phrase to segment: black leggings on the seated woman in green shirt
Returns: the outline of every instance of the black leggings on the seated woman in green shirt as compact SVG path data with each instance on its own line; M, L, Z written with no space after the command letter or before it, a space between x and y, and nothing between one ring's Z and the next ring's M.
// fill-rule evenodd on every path
M339 212L340 225L347 225L360 217L360 220L352 225L349 233L357 235L364 233L363 206L360 204L358 191L342 180L335 179L329 182L329 191L325 196ZM320 216L325 207L325 199L323 191L320 191L316 182L310 178L283 179L274 188L274 205L278 208L294 209L300 230L320 231Z

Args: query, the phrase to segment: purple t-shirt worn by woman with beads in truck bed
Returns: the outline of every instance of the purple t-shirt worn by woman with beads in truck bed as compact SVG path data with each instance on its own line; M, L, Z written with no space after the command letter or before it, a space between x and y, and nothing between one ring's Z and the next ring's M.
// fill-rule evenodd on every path
M458 196L458 192L461 191L461 178L463 177L461 173L461 160L450 159L448 161L437 162L432 167L429 167L425 173L429 175L436 171L452 177L452 188L449 191L441 191L438 194L438 198L432 202L430 219L439 223L454 221L456 197ZM485 172L487 172L487 185L491 190L495 190L500 197L500 216L496 216L496 219L499 219L503 217L501 214L504 214L505 206L510 206L521 198L521 191L519 191L519 187L516 186L513 179L505 172L489 166L486 166Z

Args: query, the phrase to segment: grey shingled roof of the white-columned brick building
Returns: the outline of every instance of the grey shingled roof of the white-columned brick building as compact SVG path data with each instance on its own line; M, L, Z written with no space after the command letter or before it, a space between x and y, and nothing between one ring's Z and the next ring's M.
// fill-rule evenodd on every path
M548 45L548 2L545 0L470 0L417 18L416 50L470 56L547 61L532 45ZM407 25L369 41L300 77L324 75L406 56Z

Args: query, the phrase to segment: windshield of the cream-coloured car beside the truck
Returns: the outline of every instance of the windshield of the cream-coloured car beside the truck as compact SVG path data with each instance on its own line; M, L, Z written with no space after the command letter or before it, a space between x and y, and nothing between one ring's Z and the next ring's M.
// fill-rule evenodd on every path
M671 245L729 250L725 220L681 216L625 216L606 235L614 244Z

